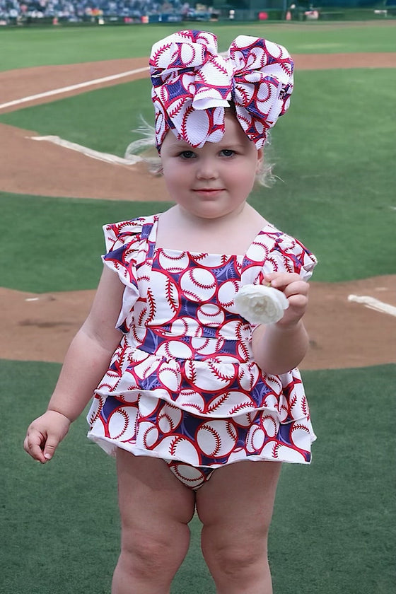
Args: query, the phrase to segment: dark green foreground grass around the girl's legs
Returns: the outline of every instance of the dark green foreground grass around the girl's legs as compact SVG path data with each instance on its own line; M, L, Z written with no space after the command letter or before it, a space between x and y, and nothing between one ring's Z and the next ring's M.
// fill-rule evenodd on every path
M269 541L274 593L393 592L395 368L304 373L318 441L310 467L284 465L281 474ZM82 417L51 464L33 463L21 448L58 372L50 363L0 368L4 594L110 592L119 535L113 460L86 440ZM214 594L197 518L191 528L172 593Z

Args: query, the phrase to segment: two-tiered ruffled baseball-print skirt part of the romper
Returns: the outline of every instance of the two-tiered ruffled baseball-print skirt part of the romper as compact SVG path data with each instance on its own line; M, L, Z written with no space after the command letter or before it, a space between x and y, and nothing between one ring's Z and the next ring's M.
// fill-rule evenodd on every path
M227 356L150 354L126 337L87 420L88 438L110 455L124 448L193 467L246 459L307 464L315 441L298 369L267 376Z

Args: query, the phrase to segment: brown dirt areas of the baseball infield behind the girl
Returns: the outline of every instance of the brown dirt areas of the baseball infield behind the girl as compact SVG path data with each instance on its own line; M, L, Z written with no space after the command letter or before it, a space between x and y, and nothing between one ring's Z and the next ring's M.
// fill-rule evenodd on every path
M295 56L297 69L396 67L396 54ZM0 73L1 103L140 69L147 59L48 66ZM146 71L122 81L147 76ZM94 84L98 88L120 81ZM91 88L32 98L0 112L44 103ZM33 195L144 201L169 199L161 178L140 165L96 161L50 142L37 132L0 124L0 190ZM301 368L342 368L396 362L396 318L348 301L371 296L396 306L396 276L348 283L311 284L306 325L310 351ZM93 291L34 295L0 288L0 358L61 362L71 337L88 313Z

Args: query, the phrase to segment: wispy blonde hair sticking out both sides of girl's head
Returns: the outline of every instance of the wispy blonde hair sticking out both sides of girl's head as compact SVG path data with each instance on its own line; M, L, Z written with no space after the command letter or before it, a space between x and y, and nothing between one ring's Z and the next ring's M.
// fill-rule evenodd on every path
M161 157L156 149L156 129L148 124L144 117L141 117L140 126L132 132L140 134L141 137L127 146L124 158L135 161L136 156L139 156L148 165L150 173L162 175ZM268 134L264 144L264 153L267 153L270 145L270 134ZM260 170L256 175L256 182L264 187L272 187L276 181L276 177L272 173L273 168L274 163L269 163L266 158L263 158Z

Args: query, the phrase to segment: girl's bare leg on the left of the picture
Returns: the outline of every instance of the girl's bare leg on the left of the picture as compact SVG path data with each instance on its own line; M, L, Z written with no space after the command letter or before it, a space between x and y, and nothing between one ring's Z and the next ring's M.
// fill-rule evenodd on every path
M187 553L195 496L158 458L117 451L121 554L112 594L168 594Z

